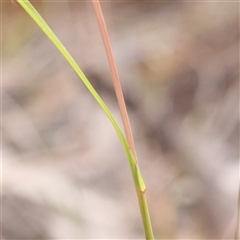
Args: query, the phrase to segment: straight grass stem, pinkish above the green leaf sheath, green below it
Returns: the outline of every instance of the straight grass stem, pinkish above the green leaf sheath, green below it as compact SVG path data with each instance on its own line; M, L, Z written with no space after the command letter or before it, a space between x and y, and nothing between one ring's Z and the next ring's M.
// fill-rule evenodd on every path
M136 153L135 144L134 144L134 140L133 140L132 130L131 130L131 126L130 126L130 122L129 122L129 118L128 118L128 113L127 113L127 109L126 109L126 105L125 105L125 101L124 101L124 97L123 97L123 93L122 93L121 83L119 80L117 67L116 67L116 64L114 61L111 44L110 44L110 40L109 40L109 36L108 36L108 31L107 31L106 23L105 23L104 16L102 13L101 5L99 3L99 0L92 0L92 3L94 6L94 9L95 9L99 29L100 29L100 32L102 35L102 40L103 40L105 51L107 54L108 63L109 63L109 67L110 67L110 71L111 71L111 75L112 75L112 80L113 80L115 93L116 93L117 100L118 100L118 105L119 105L119 109L120 109L120 113L121 113L121 117L122 117L122 121L123 121L123 125L124 125L127 142L129 144L131 152L133 153L133 155L135 157L136 164L138 164L137 153ZM136 190L137 189L138 189L138 187L136 186ZM139 207L140 207L141 215L142 215L145 237L146 237L146 239L154 239L152 226L151 226L151 220L150 220L148 206L147 206L147 200L146 200L146 196L145 196L145 191L139 192L137 190L137 196L138 196Z

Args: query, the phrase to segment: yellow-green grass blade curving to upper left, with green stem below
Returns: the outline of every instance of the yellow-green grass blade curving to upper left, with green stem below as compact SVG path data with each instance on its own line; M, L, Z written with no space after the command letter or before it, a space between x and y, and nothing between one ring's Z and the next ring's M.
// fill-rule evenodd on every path
M54 34L54 32L50 29L50 27L47 25L47 23L44 21L44 19L41 17L41 15L37 12L37 10L32 6L32 4L28 0L17 0L18 3L26 10L26 12L30 15L30 17L37 23L37 25L43 30L43 32L48 36L48 38L53 42L53 44L57 47L59 52L64 56L64 58L68 61L68 63L71 65L71 67L74 69L74 71L77 73L79 78L82 80L82 82L85 84L89 92L92 94L92 96L95 98L97 103L100 105L104 113L109 118L110 122L112 123L119 140L122 144L123 150L125 152L125 155L128 160L128 164L131 170L131 174L133 176L133 181L135 184L135 188L138 195L138 201L140 205L143 225L145 229L145 235L146 239L152 240L153 239L153 233L151 228L151 222L150 217L148 213L148 207L146 198L144 195L144 192L146 190L145 183L143 181L142 175L140 173L140 170L138 168L136 159L130 150L130 147L128 145L127 140L125 139L120 127L118 126L115 118L113 117L112 113L104 103L104 101L101 99L101 97L98 95L98 93L95 91L87 77L84 75L82 70L79 68L75 60L72 58L70 53L66 50L66 48L63 46L61 41L57 38L57 36Z

